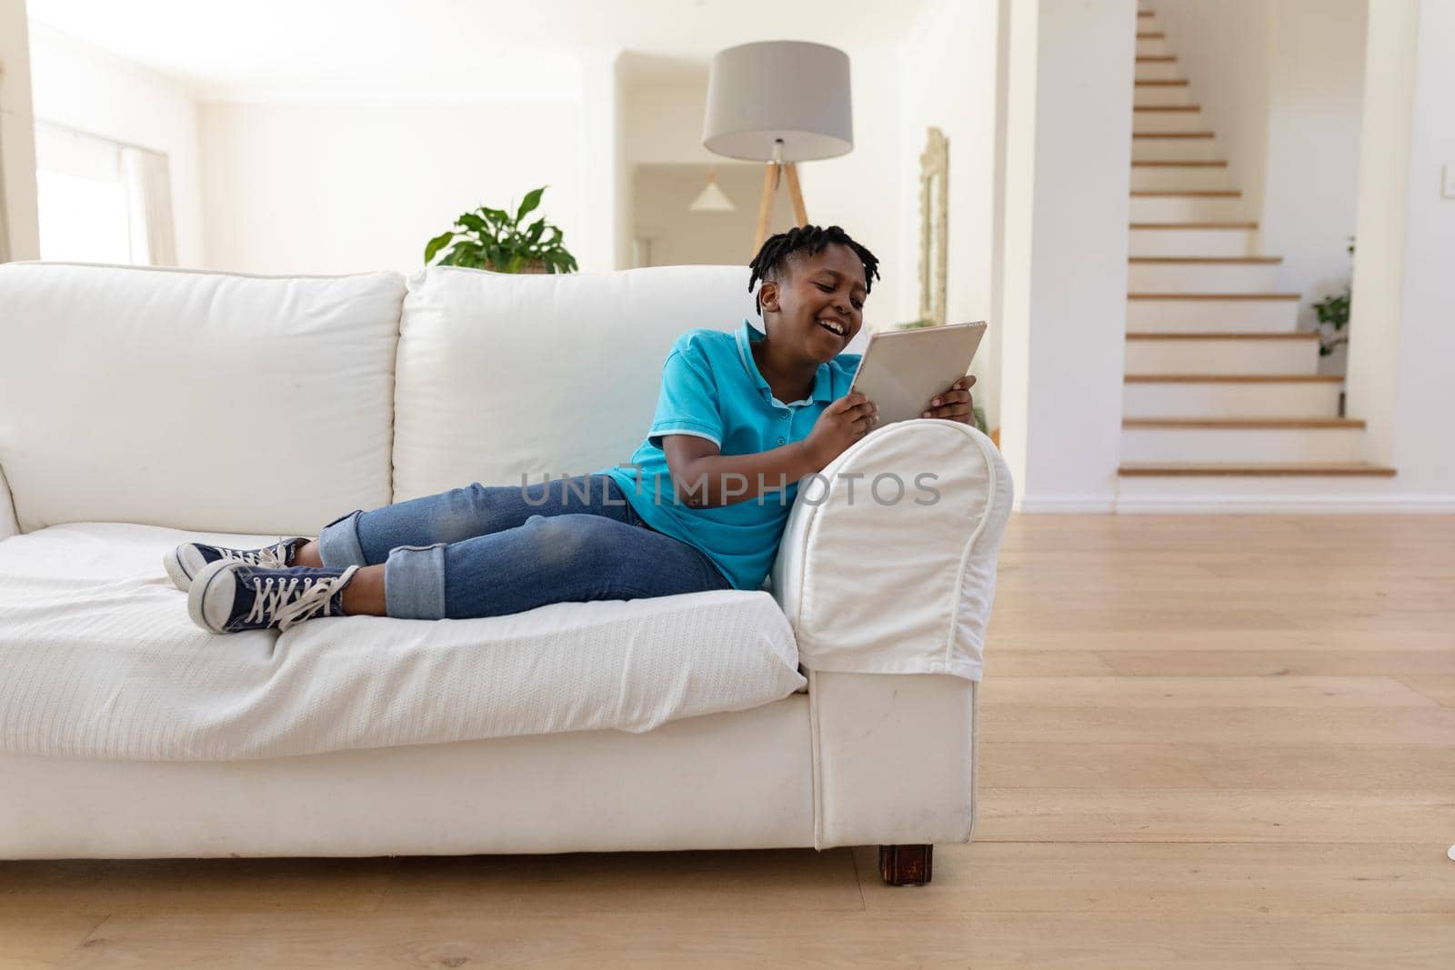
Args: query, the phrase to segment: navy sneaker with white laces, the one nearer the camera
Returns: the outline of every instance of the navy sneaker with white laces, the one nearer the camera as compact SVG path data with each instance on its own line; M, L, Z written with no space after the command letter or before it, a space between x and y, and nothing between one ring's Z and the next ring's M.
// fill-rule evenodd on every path
M343 588L358 569L268 569L220 558L194 577L186 609L212 633L287 630L314 617L342 617Z

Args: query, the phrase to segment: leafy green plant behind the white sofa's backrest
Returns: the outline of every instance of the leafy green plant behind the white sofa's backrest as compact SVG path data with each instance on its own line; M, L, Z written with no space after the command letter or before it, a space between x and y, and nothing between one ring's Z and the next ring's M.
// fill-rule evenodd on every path
M469 266L498 273L573 272L576 257L562 246L565 236L559 227L546 223L544 217L521 225L540 205L546 188L527 192L514 217L485 205L461 214L454 228L425 246L425 265L434 262L436 266ZM550 236L546 236L547 230Z

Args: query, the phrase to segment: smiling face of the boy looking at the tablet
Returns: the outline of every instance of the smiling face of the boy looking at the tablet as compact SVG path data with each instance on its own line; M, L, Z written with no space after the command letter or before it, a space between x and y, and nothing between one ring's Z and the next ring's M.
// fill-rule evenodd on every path
M832 361L864 324L864 263L842 243L790 256L781 282L758 288L764 317L777 313L774 342L797 346L813 361ZM838 330L838 332L835 332Z

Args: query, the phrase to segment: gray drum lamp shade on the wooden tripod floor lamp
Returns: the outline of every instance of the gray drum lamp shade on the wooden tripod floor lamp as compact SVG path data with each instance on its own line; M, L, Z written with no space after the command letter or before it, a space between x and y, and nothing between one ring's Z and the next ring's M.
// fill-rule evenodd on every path
M739 44L713 55L703 145L729 159L832 159L854 147L848 54L806 41Z

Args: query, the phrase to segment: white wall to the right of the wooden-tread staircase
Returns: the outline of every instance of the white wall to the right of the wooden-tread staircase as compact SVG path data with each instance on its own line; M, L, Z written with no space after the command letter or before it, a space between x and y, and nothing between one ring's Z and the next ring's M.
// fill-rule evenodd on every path
M1371 4L1350 410L1410 509L1455 509L1455 4Z

